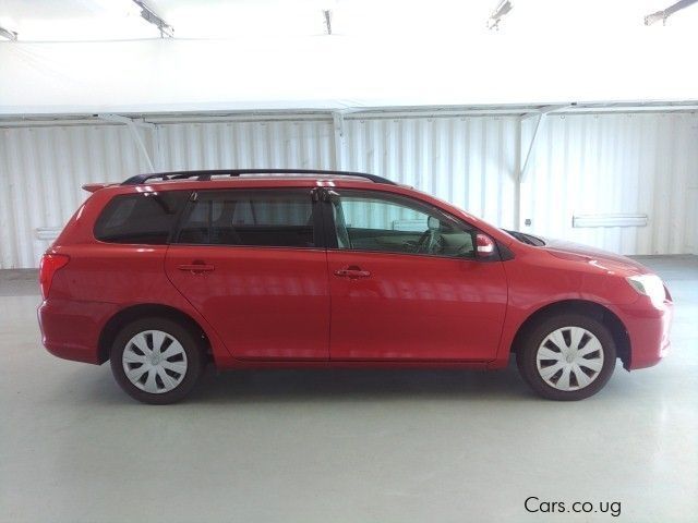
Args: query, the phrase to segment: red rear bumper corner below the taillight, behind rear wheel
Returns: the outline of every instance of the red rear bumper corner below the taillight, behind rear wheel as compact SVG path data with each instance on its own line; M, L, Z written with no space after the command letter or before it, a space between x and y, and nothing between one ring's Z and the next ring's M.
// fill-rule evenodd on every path
M41 342L63 360L100 364L99 335L115 308L110 303L46 300L38 308Z

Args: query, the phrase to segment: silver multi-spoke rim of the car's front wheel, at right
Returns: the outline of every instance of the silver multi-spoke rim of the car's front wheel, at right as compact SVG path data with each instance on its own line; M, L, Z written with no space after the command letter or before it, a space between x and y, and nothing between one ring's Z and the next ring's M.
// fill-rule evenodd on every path
M541 378L557 390L589 387L603 368L603 346L581 327L563 327L547 335L538 348Z

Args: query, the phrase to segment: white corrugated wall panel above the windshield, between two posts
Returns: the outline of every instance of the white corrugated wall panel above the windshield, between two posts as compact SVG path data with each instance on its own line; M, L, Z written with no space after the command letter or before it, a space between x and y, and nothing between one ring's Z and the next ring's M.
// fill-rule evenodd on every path
M518 119L350 119L347 169L389 178L514 227Z

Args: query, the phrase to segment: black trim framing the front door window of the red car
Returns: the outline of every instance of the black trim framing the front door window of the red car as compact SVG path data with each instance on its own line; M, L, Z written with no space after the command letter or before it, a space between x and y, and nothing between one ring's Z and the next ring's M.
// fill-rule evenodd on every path
M471 223L457 218L455 216L453 216L449 212L446 212L445 210L441 209L440 207L436 207L435 205L432 205L428 202L423 202L419 198L414 198L412 196L406 196L404 194L398 194L398 193L393 193L390 191L380 191L380 190L372 190L372 188L352 188L352 187L332 187L333 192L336 192L339 197L341 197L342 193L360 193L360 194L365 194L369 197L372 197L374 195L377 195L378 198L376 199L381 199L380 196L388 196L388 198L395 198L395 199L404 199L407 200L409 203L413 203L416 204L414 207L417 207L417 210L419 210L419 208L423 208L428 211L433 211L434 214L445 218L445 221L452 221L454 224L458 226L458 227L464 227L466 229L470 229L472 230L472 240L473 240L473 245L474 245L474 241L476 241L476 234L480 233L481 231L472 226ZM327 188L323 188L323 196L321 198L322 200L322 207L323 207L323 217L325 218L325 226L326 226L326 231L325 231L325 238L326 238L326 248L327 251L333 251L333 252L340 252L340 253L370 253L370 254L383 254L383 255L388 255L388 256L419 256L422 258L440 258L440 259L453 259L453 260L465 260L465 262L479 262L478 256L473 253L472 256L444 256L442 254L428 254L428 253L396 253L396 252L392 252L392 251L372 251L372 250L368 250L368 248L339 248L339 245L337 243L337 233L336 233L336 224L335 224L335 219L334 219L334 212L332 209L332 198L329 195L329 190ZM428 212L425 212L428 214ZM493 257L492 259L496 258L496 260L500 259L498 256Z

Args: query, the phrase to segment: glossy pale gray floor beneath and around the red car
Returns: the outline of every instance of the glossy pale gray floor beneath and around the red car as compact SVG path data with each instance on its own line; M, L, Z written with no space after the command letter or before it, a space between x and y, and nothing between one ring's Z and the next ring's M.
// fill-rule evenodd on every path
M509 366L212 373L186 403L141 405L108 366L45 352L34 282L5 272L0 521L613 520L529 514L529 496L696 521L698 257L642 262L674 295L673 352L578 403Z

